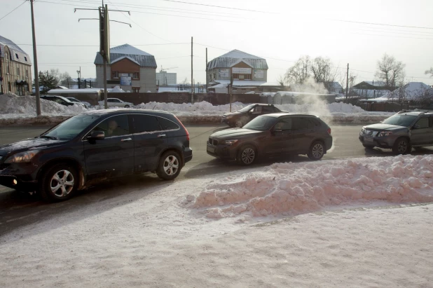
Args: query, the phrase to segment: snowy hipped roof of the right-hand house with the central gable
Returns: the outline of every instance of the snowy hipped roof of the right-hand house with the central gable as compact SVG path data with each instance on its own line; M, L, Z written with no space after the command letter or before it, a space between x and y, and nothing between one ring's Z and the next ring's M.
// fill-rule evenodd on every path
M229 53L221 55L209 62L209 69L230 68L240 62L245 62L254 69L268 69L266 59L257 57L240 50L231 50Z

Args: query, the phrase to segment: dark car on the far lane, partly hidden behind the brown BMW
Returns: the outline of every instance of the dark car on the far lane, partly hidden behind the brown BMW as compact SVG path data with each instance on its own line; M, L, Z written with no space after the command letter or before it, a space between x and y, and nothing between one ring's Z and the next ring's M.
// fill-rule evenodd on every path
M272 104L250 104L239 111L224 114L221 122L230 127L242 127L257 116L280 112L282 111Z

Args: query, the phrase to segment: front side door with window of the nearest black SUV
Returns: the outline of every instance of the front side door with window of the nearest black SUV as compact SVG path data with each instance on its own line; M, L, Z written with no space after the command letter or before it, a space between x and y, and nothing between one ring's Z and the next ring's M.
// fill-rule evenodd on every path
M99 123L92 131L95 130L103 131L105 139L84 142L85 165L88 174L100 174L102 176L102 174L132 173L134 169L134 141L129 129L128 116L110 117Z

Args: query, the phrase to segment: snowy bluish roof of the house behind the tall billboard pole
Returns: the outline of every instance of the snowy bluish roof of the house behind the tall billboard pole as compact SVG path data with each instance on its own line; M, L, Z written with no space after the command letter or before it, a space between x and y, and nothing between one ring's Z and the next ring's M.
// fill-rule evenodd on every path
M114 48L110 48L110 60L116 62L118 58L129 57L130 60L134 60L141 67L151 67L156 69L156 60L153 55L139 50L129 44L123 44ZM95 64L104 64L102 55L96 53Z

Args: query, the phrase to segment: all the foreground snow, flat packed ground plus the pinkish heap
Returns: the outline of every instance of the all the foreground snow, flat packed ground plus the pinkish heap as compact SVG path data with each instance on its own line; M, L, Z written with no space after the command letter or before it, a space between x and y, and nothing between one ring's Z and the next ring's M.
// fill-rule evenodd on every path
M191 169L188 163L181 173ZM152 188L138 181L88 191L78 196L85 204L77 199L64 214L2 231L0 286L433 282L433 156L279 163L153 181Z

